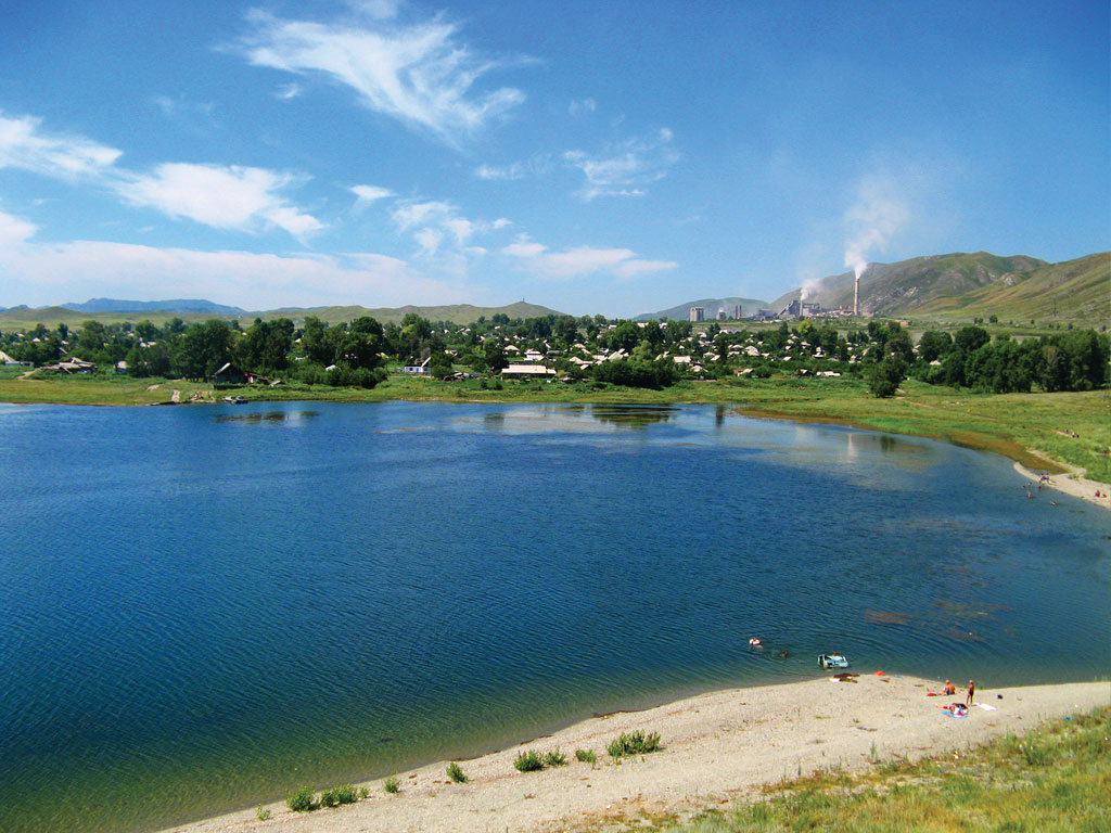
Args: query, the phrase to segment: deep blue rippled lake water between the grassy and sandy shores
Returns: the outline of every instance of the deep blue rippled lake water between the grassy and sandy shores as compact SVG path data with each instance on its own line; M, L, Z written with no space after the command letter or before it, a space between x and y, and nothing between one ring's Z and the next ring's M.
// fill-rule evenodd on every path
M721 407L3 407L0 472L12 833L157 830L825 650L987 688L1111 668L1111 513L929 440Z

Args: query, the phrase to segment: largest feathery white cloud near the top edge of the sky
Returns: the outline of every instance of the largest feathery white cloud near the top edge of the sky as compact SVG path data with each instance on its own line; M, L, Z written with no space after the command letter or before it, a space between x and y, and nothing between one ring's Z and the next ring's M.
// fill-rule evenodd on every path
M458 40L457 27L437 17L423 23L387 23L396 3L363 3L376 21L317 23L253 11L239 48L258 67L322 73L354 90L376 112L453 142L524 101L504 87L481 92L476 82L500 62ZM390 16L391 17L391 16Z

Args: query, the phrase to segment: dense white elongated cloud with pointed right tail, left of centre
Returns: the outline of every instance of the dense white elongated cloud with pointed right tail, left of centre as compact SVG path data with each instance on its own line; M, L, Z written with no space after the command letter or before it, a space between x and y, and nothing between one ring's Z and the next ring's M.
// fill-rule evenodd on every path
M250 231L276 225L302 238L323 227L277 193L296 181L291 174L262 168L168 162L152 175L127 174L117 191L133 205L217 229Z

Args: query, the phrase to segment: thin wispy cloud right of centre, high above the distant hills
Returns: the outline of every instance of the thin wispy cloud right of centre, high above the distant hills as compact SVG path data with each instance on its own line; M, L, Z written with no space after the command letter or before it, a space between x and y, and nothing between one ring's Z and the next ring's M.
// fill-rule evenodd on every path
M643 197L648 187L668 175L668 169L679 161L672 138L671 131L663 128L652 137L629 139L604 153L591 155L571 150L563 159L587 178L578 191L587 202L598 197Z

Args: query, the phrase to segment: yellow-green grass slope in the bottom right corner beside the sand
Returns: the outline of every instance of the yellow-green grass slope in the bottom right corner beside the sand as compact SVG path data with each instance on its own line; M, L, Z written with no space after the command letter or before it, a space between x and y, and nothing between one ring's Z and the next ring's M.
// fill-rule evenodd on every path
M1111 706L979 749L784 781L667 833L1111 830Z

